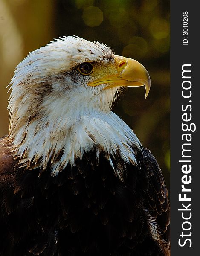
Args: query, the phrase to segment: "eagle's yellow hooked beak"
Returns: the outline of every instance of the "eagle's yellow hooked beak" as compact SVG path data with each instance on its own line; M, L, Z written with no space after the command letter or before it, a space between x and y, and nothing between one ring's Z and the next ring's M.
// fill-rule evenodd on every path
M116 69L109 72L109 75L103 76L101 79L88 83L89 86L97 86L99 84L107 84L107 88L128 86L138 87L145 86L145 99L150 90L150 76L142 64L131 58L125 58L115 55Z

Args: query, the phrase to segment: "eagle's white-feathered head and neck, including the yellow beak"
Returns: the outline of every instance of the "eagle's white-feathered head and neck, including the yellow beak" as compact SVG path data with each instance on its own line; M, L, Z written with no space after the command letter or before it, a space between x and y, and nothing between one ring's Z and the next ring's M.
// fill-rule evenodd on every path
M118 150L136 164L129 140L138 149L139 140L110 109L120 87L144 85L148 95L150 78L139 62L68 36L30 52L11 84L9 139L28 166L51 161L56 174L94 148L97 155Z

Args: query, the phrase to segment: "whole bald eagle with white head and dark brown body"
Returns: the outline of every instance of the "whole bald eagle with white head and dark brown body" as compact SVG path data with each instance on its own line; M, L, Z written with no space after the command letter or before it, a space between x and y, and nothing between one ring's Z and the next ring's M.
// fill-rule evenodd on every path
M111 111L145 86L139 62L68 36L16 67L0 139L0 256L168 256L168 191L151 151Z

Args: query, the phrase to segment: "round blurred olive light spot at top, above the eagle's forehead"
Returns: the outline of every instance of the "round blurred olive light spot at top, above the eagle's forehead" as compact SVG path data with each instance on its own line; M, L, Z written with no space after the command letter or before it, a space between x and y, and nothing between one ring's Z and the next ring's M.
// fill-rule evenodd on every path
M84 20L84 23L90 27L99 26L104 20L103 12L101 12L99 7L95 6L89 6L85 8L82 18Z

